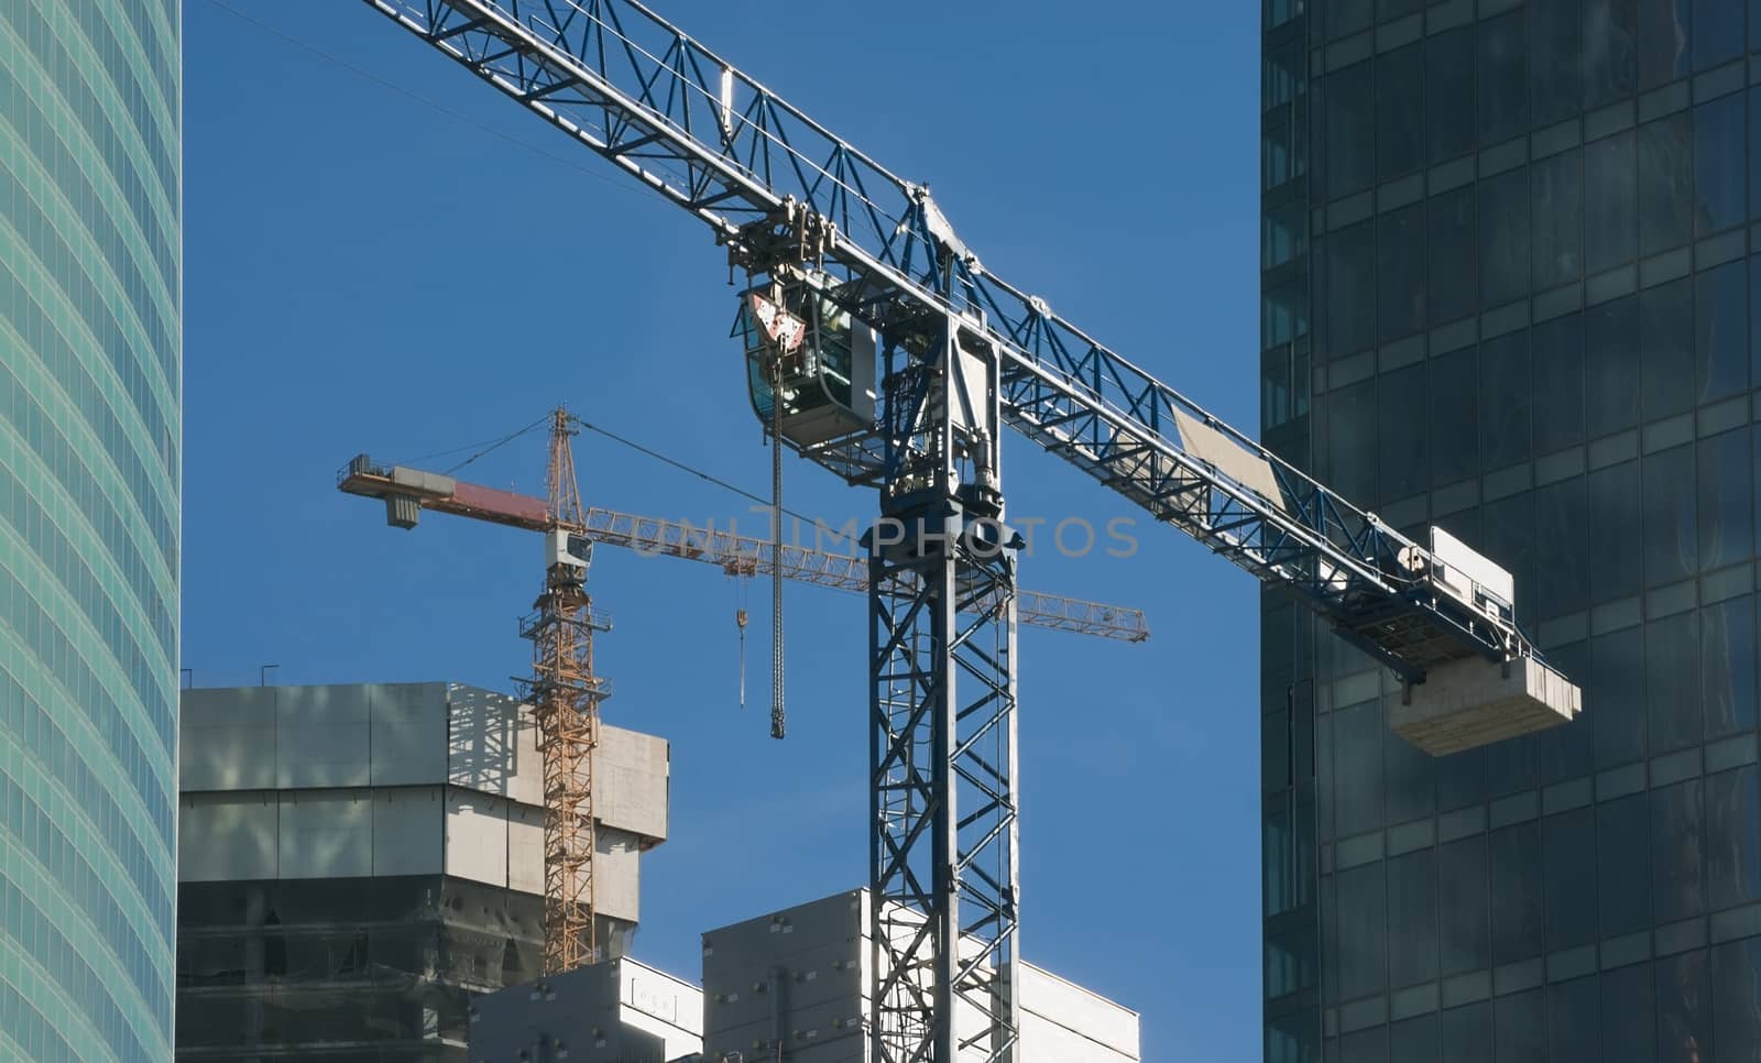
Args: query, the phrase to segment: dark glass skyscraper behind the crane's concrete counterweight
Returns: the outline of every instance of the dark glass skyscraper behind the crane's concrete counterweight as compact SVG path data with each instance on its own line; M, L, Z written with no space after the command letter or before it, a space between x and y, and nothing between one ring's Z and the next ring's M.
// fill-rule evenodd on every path
M1263 14L1263 438L1585 692L1432 760L1266 598L1266 1059L1761 1059L1761 4Z

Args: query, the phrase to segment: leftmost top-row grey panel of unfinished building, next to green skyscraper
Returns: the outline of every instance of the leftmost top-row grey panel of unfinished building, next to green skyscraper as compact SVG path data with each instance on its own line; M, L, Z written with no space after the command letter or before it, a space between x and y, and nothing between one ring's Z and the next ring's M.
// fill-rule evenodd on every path
M275 787L275 690L183 690L178 718L180 790Z

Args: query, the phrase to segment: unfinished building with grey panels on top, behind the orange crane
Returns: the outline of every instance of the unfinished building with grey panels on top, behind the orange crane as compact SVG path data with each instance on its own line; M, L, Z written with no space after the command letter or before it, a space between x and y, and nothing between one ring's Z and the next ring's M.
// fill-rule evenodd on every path
M544 971L532 713L454 683L183 692L178 1059L463 1061L472 996ZM667 832L667 743L602 727L595 940Z

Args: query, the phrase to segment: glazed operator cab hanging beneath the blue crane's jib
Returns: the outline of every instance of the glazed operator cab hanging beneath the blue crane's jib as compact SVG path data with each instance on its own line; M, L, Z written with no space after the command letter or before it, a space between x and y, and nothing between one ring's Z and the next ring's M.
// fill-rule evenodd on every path
M752 412L798 447L875 424L875 333L826 297L822 273L798 273L740 296L734 334L747 354Z

